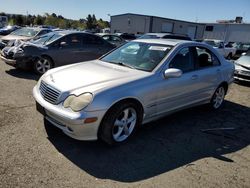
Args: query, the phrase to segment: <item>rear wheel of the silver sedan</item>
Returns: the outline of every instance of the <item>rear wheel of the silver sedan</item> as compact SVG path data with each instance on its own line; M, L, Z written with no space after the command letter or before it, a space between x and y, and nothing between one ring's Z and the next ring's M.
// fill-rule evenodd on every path
M214 95L210 101L210 106L212 109L214 110L217 110L219 109L223 102L224 102L224 98L225 98L225 95L226 95L226 89L225 87L223 87L222 85L219 86L215 92L214 92Z

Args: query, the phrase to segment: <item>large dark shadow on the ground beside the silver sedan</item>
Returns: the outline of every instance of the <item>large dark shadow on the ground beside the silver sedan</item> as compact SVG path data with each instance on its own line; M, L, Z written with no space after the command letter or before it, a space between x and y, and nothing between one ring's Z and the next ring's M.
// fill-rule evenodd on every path
M234 162L225 154L249 145L249 116L248 107L229 101L218 111L191 108L144 125L128 143L115 147L71 139L51 125L45 129L55 148L83 171L99 179L136 182L205 157Z

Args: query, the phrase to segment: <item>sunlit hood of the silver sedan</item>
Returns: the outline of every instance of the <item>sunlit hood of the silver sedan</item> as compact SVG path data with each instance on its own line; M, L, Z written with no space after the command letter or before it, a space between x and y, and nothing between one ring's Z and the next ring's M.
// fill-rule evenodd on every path
M52 69L42 80L62 92L77 95L83 90L97 92L149 75L151 73L94 60Z

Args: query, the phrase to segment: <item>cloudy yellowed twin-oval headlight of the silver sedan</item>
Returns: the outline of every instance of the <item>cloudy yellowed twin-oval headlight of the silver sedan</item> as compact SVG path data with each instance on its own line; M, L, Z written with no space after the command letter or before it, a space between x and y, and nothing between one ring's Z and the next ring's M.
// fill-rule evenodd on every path
M64 108L70 107L73 111L78 112L83 108L87 107L93 100L93 95L91 93L83 93L79 96L70 95L64 101Z

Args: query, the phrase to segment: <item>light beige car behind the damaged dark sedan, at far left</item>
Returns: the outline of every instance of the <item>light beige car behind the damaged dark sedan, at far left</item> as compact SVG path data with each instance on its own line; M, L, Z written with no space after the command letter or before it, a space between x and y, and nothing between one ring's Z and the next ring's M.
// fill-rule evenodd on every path
M50 29L38 27L23 27L17 29L0 39L0 49L3 49L6 46L13 46L17 40L28 41L39 38L41 35L49 32L51 32Z

